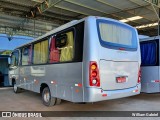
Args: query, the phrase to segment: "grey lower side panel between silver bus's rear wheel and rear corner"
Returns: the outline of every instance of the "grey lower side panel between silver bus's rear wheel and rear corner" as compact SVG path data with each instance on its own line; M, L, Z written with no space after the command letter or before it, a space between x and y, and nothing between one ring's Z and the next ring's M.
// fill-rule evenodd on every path
M83 101L82 62L47 65L45 76L53 97Z

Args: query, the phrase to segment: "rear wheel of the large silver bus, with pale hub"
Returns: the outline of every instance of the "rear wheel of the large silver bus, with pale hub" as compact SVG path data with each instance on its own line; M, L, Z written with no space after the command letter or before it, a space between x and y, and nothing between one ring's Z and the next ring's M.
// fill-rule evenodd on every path
M42 92L42 101L45 106L53 106L56 103L56 98L51 96L49 87L45 87Z

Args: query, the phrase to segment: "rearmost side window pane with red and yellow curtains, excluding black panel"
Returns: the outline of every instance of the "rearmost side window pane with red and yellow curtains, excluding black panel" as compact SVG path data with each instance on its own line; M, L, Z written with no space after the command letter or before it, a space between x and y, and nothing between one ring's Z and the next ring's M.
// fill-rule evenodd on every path
M49 50L50 63L72 61L74 57L73 31L52 36L49 41Z

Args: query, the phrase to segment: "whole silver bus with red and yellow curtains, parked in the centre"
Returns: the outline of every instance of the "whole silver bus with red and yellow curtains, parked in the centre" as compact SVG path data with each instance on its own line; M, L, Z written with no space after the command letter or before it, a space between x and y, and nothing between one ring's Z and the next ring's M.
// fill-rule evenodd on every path
M20 46L11 55L10 84L42 94L46 106L61 99L96 102L140 93L137 30L89 16Z

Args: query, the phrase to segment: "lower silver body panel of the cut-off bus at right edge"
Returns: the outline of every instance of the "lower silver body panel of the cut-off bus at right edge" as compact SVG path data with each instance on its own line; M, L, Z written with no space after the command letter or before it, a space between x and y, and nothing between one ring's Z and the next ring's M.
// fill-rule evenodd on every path
M141 92L154 93L160 92L159 89L159 66L142 67L142 90Z

